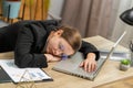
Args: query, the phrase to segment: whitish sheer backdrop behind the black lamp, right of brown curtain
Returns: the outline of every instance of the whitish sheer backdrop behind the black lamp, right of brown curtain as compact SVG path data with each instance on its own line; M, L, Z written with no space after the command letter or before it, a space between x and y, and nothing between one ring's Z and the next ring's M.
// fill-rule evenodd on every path
M121 34L126 31L125 36L123 37L123 40L121 41L121 45L129 47L130 41L133 40L133 26L124 23L121 19L120 19L120 14L123 13L125 10L131 9L133 6L133 0L120 0L120 6L119 6L119 11L117 11L117 18L116 18L116 22L114 25L114 31L113 31L113 35L112 35L112 41L116 41Z

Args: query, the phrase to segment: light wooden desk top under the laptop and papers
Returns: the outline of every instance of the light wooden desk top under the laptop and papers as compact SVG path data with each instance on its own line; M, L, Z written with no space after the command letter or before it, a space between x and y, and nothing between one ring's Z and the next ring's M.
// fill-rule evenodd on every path
M92 44L96 45L98 48L110 50L113 44L113 42L108 41L101 36L93 36L83 40L89 41ZM116 50L127 52L127 50L121 45L119 45ZM12 55L13 53L11 54L8 53L8 57ZM7 57L7 55L6 54L0 55L0 58L2 57ZM57 63L49 63L49 67L43 68L54 80L48 82L35 82L38 88L92 88L99 85L103 85L117 79L133 76L133 68L130 68L127 72L121 72L119 69L119 62L114 61L106 61L106 63L103 65L101 72L99 73L94 81L54 72L52 70L52 67L55 64ZM14 87L16 85L12 82L0 84L0 88L14 88Z

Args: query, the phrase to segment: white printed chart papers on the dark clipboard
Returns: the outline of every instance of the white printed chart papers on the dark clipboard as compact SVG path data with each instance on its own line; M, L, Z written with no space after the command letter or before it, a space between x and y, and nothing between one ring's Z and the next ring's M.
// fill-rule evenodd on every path
M14 82L52 79L41 68L18 68L14 59L0 59L0 65Z

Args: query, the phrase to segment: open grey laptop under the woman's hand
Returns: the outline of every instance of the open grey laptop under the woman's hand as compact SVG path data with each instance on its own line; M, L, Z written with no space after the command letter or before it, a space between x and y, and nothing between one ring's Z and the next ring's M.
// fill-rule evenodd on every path
M110 58L114 48L116 47L116 45L120 43L120 41L122 40L122 37L124 35L125 35L125 32L121 35L121 37L116 41L116 43L114 43L114 45L111 48L110 53L108 54L106 58L102 58L102 57L99 58L99 61L96 62L98 67L92 73L86 73L83 70L83 68L79 67L81 62L84 61L83 55L80 52L76 52L71 58L59 62L55 66L53 66L52 69L60 72L60 73L64 73L64 74L78 76L81 78L85 78L89 80L94 80L94 78L98 76L100 69L102 68L103 64L105 63L105 61L108 58Z

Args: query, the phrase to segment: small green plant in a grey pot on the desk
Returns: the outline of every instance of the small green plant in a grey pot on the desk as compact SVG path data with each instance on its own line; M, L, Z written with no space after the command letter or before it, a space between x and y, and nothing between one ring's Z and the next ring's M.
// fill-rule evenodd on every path
M122 59L120 63L120 69L121 70L127 70L130 67L131 61L130 59Z

